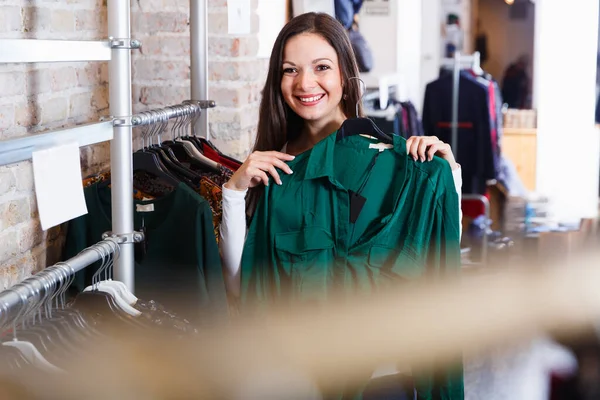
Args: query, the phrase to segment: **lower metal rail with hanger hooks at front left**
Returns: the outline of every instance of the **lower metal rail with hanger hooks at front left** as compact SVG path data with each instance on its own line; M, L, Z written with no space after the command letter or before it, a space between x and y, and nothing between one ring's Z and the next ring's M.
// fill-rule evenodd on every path
M23 314L23 307L30 304L33 297L44 296L56 288L57 284L65 284L76 272L115 253L118 256L118 241L117 238L107 238L81 251L75 257L45 268L0 292L0 322L5 325L19 318Z

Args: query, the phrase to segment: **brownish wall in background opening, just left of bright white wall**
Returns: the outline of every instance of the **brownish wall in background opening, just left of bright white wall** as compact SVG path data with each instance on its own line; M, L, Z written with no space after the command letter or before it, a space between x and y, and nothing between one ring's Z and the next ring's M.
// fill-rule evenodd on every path
M488 60L484 68L498 81L506 67L520 55L528 54L533 61L535 7L533 4L529 7L527 19L513 20L509 18L510 6L504 1L479 0L481 31L488 39ZM530 68L530 78L533 78L532 73Z

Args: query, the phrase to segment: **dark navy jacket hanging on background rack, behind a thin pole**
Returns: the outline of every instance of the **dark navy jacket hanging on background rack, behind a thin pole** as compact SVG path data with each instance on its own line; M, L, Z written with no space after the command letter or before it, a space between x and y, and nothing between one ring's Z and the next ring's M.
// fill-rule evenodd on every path
M486 193L486 182L496 178L489 92L468 72L460 73L456 161L463 174L463 193ZM452 76L429 83L423 103L425 135L452 143Z

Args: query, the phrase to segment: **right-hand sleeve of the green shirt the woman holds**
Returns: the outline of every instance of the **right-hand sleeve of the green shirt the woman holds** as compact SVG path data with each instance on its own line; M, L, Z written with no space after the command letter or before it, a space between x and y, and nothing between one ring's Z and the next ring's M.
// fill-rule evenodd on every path
M460 223L457 213L447 212L458 207L458 196L450 170L444 173L438 187L442 187L433 219L432 238L429 245L429 267L433 278L456 276L460 273ZM464 399L462 356L456 355L451 367L430 367L413 370L418 400Z

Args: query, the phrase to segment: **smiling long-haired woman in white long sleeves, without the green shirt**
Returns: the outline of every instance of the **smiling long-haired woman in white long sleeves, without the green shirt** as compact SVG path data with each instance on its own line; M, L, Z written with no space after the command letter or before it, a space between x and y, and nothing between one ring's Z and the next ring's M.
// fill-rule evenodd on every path
M291 174L286 161L310 150L355 117L360 100L358 68L343 27L324 14L304 14L290 21L275 41L260 105L254 151L223 186L221 251L226 285L240 295L240 261L249 213L269 176L281 183L279 172ZM359 114L363 116L362 105ZM442 157L452 169L460 195L460 166L450 146L436 137L411 137L407 150L414 160ZM249 191L249 192L248 192ZM248 194L248 196L246 196ZM459 212L448 210L448 212Z

